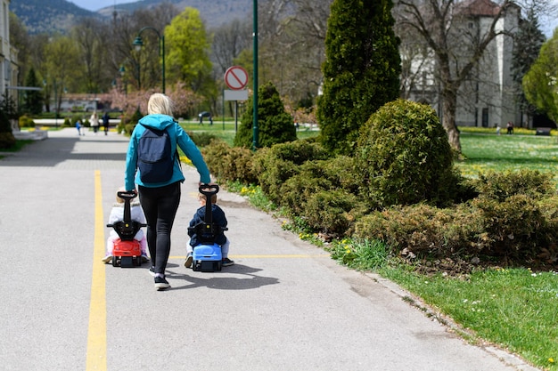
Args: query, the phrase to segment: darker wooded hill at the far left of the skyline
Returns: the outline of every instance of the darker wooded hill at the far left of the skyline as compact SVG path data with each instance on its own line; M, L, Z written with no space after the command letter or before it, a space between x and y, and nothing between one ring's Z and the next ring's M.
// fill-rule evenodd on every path
M82 17L100 16L66 0L12 0L10 11L18 16L30 34L63 33Z

